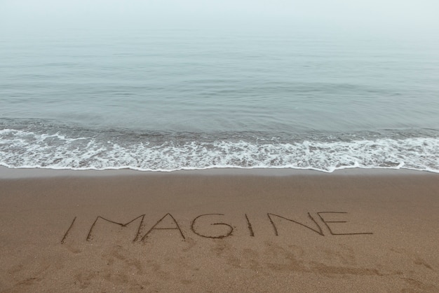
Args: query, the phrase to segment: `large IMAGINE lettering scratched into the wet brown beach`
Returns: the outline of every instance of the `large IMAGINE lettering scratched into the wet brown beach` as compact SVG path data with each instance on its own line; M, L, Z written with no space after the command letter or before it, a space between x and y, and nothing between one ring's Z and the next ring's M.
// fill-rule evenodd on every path
M348 221L344 220L344 215L348 214L348 212L314 212L311 214L310 212L306 212L307 221L311 224L304 224L304 220L299 222L296 218L290 219L290 217L284 217L279 214L266 214L266 221L271 225L273 229L273 235L279 236L280 226L283 226L282 231L284 233L288 233L288 230L292 229L292 226L295 226L299 229L306 229L309 233L316 233L319 236L352 236L352 235L370 235L372 232L363 232L363 231L349 231L344 233L336 233L337 225L340 224L348 224ZM84 238L86 241L93 240L93 233L97 229L99 225L107 225L112 224L119 226L119 228L123 229L127 226L136 228L133 229L133 242L144 242L147 238L152 237L155 233L157 237L158 231L163 230L175 230L177 233L177 237L182 240L186 240L186 235L183 233L179 222L175 219L173 214L167 213L161 219L158 219L156 224L150 226L147 232L144 231L145 225L145 216L146 214L141 214L129 222L119 223L114 221L113 219L107 219L105 217L97 216L93 223L90 223L90 229L88 230L87 236ZM196 236L202 238L227 238L233 236L234 229L236 228L230 223L225 222L217 222L220 217L224 216L224 214L199 214L190 222L190 231L194 233ZM306 217L305 216L305 217ZM74 224L76 222L77 217L74 217L72 223L68 227L67 231L64 234L64 237L61 240L61 243L64 244L69 238L69 234L74 229ZM311 222L310 222L311 221ZM245 223L246 230L248 231L248 236L255 237L255 226L250 221L248 214L243 214L243 223ZM285 224L288 224L287 229L285 229ZM289 229L288 229L289 228ZM323 229L322 229L323 228ZM327 231L324 231L327 229Z

